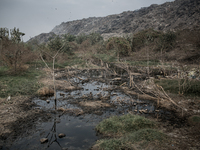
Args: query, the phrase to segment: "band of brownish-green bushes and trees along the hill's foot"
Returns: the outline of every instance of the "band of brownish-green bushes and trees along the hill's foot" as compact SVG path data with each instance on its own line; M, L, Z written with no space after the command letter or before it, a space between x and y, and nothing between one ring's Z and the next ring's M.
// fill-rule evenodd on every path
M40 55L46 62L49 62L52 58L50 56L62 48L56 61L63 63L73 56L76 51L87 51L91 47L93 47L94 53L107 54L109 51L115 50L118 60L119 57L132 57L134 53L140 52L144 47L148 47L150 51L159 53L160 59L165 59L166 53L177 47L177 45L182 46L188 43L198 49L200 43L198 33L200 33L199 30L197 32L180 30L164 33L147 29L127 37L112 37L107 41L104 41L99 33L90 33L88 35L82 33L77 36L64 34L54 36L47 43L39 45L38 41L24 43L22 37L25 33L20 32L17 28L10 31L7 28L0 28L0 62L1 65L9 67L10 70L17 73L26 68L26 63L36 59L41 60ZM184 46L182 47L184 48Z

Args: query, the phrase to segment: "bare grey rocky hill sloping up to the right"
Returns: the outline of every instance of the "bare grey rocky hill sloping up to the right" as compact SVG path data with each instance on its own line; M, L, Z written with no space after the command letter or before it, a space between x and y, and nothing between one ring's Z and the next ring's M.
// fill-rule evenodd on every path
M122 36L136 33L143 29L167 31L184 28L199 27L200 25L200 1L199 0L175 0L162 5L153 4L149 7L135 11L127 11L121 14L106 17L90 17L82 20L63 22L53 28L51 32L56 35L70 33L98 32L104 38ZM51 33L51 35L53 35ZM50 34L40 34L31 40L46 42Z

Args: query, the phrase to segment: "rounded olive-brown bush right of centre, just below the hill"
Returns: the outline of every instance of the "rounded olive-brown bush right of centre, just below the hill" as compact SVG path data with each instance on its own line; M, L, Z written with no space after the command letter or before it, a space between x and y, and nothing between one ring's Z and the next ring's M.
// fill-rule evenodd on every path
M129 41L121 37L110 38L106 45L107 50L117 50L118 56L129 56L131 51L131 46Z

